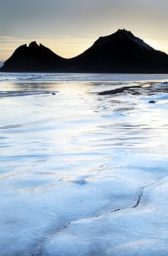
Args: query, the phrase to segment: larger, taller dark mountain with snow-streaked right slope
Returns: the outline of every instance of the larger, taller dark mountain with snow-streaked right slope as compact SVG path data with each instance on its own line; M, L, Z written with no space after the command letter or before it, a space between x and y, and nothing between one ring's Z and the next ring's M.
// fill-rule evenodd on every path
M99 37L72 61L83 72L168 72L168 55L125 29Z

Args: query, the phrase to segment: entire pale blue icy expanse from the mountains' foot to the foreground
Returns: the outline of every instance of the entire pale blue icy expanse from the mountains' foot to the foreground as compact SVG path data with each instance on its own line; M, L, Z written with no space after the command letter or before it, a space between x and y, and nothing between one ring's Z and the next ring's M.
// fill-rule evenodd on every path
M168 255L168 74L0 73L0 255Z

